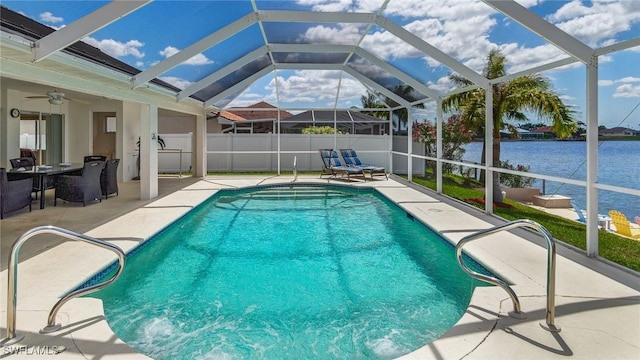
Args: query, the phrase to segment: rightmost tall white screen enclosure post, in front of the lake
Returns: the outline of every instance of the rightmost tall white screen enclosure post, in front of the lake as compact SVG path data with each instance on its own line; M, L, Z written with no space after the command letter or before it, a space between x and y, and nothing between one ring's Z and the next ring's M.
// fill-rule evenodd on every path
M587 84L587 256L598 256L598 56L586 64Z

